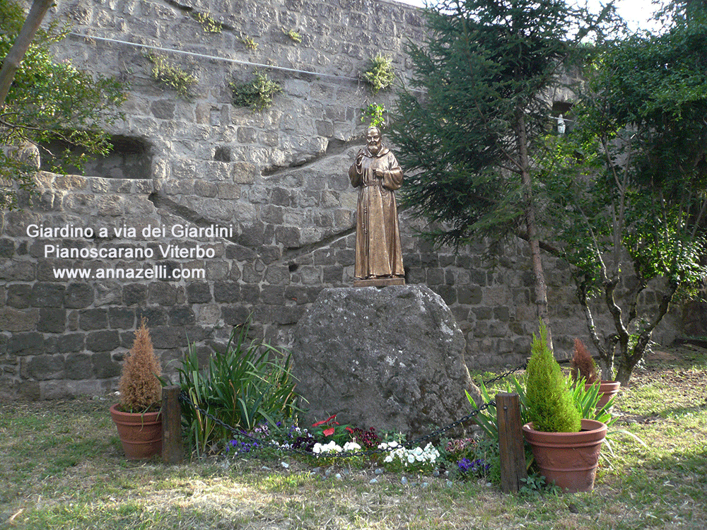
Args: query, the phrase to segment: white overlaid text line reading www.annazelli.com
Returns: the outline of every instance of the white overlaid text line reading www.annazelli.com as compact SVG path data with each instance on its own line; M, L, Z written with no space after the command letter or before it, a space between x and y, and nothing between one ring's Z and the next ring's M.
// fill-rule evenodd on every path
M173 269L165 265L82 269L56 267L56 280L194 280L205 279L206 269Z

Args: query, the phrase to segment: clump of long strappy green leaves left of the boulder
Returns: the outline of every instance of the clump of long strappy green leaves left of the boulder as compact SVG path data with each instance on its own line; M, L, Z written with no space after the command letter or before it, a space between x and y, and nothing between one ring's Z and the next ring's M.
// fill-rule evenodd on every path
M194 404L230 427L250 431L259 423L275 425L300 412L291 375L291 355L264 341L247 341L250 320L233 329L225 351L214 351L199 366L190 344L178 369L180 387ZM182 403L182 417L197 455L218 450L233 438L230 429Z

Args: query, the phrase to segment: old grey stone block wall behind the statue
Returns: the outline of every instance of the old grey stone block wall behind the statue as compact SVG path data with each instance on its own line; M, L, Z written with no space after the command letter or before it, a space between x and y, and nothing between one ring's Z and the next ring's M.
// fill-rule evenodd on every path
M69 16L75 35L54 53L129 83L126 119L110 130L109 158L84 175L41 172L32 206L0 213L0 394L115 389L141 317L168 373L187 343L206 355L250 314L255 334L291 346L318 293L351 285L356 191L346 172L362 144L360 112L395 98L374 97L358 74L382 52L409 76L404 42L421 38L419 11L383 0L93 0L59 10L48 17ZM146 52L192 71L193 98L153 81ZM283 86L263 112L230 101L228 84L255 65ZM521 363L537 329L525 245L509 243L489 269L482 247L433 249L404 212L401 227L407 282L449 305L469 367ZM585 321L566 267L546 258L563 357L575 336L588 342ZM610 331L601 312L597 322ZM670 340L677 322L666 319L658 338Z

